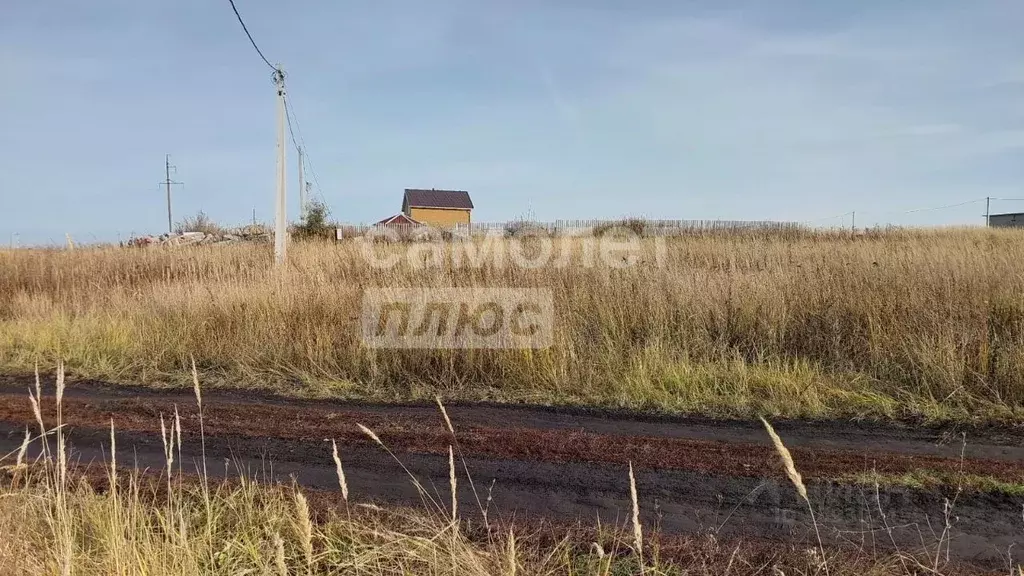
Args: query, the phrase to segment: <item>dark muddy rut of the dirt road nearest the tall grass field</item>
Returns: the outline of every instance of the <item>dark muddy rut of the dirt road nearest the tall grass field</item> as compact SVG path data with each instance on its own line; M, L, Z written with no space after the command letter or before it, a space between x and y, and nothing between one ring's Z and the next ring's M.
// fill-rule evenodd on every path
M2 397L26 397L34 386L31 375L0 375ZM44 378L44 390L52 394L52 377ZM394 421L418 427L439 425L436 405L429 402L375 404L361 401L303 400L262 390L237 388L204 389L208 404L229 407L252 406L254 411L287 409L280 414L298 414L302 425L308 420L362 417L370 421ZM66 398L94 402L134 400L141 406L189 407L195 404L191 387L154 388L81 380L70 385ZM702 416L659 415L646 412L585 407L548 407L495 403L445 401L453 420L462 426L556 429L591 431L603 436L642 436L711 440L768 446L767 437L756 420L718 419ZM156 408L153 410L158 412ZM354 415L354 416L353 416ZM376 419L375 419L376 417ZM959 458L962 438L967 440L967 456L1024 460L1024 422L1007 424L936 425L923 422L879 422L871 420L787 420L772 421L790 448L831 448L894 452L904 455Z

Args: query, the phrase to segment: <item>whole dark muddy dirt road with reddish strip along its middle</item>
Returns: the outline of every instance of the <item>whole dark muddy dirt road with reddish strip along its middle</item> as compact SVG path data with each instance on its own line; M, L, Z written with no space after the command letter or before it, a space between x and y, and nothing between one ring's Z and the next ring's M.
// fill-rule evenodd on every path
M0 378L0 453L16 450L34 421L31 380ZM44 390L45 392L45 390ZM44 418L54 421L52 400ZM164 465L160 415L177 407L186 466L202 459L191 390L76 382L65 396L73 454L100 460L111 418L118 460ZM755 422L657 418L580 410L447 406L453 440L436 406L304 402L248 393L204 394L207 467L264 480L295 478L337 488L330 439L338 442L353 497L418 505L422 498L401 466L356 423L373 429L438 502L447 494L447 449L455 445L478 498L494 519L622 523L630 511L628 464L636 469L642 519L666 533L716 531L723 537L811 542L806 504L785 480L764 429ZM808 483L822 537L836 544L908 550L934 546L947 521L950 553L997 568L1024 563L1024 498L952 487L881 488L853 483L857 472L926 471L1024 484L1024 429L777 422ZM963 442L966 436L966 445ZM460 465L460 468L462 466ZM460 507L479 515L477 496L460 469ZM955 498L954 498L955 496ZM946 501L953 502L946 515ZM882 512L884 512L884 518Z

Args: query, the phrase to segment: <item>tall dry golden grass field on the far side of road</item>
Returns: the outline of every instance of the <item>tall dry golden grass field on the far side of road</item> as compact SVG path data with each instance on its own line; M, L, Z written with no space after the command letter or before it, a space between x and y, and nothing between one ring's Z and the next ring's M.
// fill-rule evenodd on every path
M651 242L647 240L646 242ZM403 250L407 245L392 247ZM387 249L387 248L385 248ZM1016 231L669 239L660 265L369 265L352 243L0 252L0 368L289 394L720 415L1010 417L1024 403ZM550 287L544 351L360 345L362 290Z

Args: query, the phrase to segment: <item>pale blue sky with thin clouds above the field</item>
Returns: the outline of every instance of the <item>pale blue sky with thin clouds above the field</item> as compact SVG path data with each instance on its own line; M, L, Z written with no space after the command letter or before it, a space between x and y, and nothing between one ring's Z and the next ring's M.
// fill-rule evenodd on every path
M1024 198L1019 0L237 4L343 221L404 188L468 190L478 220L977 223L902 212ZM271 219L273 88L227 0L5 0L0 68L0 241L162 232L168 153L177 215Z

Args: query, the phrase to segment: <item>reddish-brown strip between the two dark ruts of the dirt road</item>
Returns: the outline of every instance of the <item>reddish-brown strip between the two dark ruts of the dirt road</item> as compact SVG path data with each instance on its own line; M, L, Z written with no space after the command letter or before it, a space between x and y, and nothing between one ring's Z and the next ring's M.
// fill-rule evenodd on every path
M185 400L185 399L179 399ZM371 446L373 443L356 427L362 423L385 441L389 448L403 453L444 454L453 443L436 407L432 413L410 416L380 413L376 410L341 410L263 404L227 404L204 401L204 423L209 436L232 436L253 439L273 438L301 442L336 439L343 444ZM65 422L69 425L102 429L111 419L123 431L156 431L161 415L178 410L185 428L199 428L199 414L193 404L177 404L157 398L92 400L66 395ZM45 400L42 407L47 421L56 418L55 408ZM581 428L528 428L464 426L460 413L451 411L457 426L458 444L470 455L547 462L592 462L653 469L681 468L692 471L736 477L784 478L778 457L764 431L758 444L723 442L667 436L603 435ZM0 420L32 422L34 416L23 395L0 394ZM784 433L782 433L784 434ZM985 476L1005 482L1024 482L1024 462L1011 459L953 458L930 454L905 454L880 450L877 445L857 450L792 447L801 469L809 478L836 478L852 472L878 471L903 475L931 470L945 475L961 472ZM1008 447L1008 450L1014 450Z

